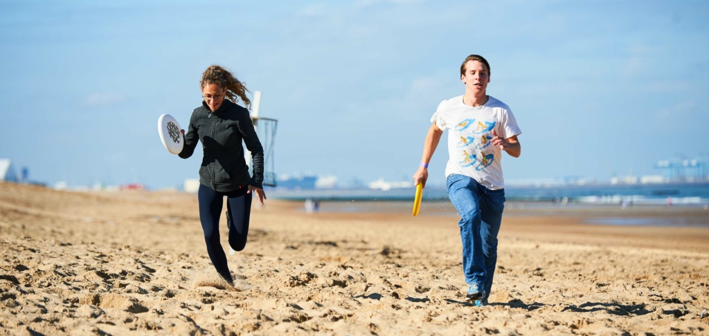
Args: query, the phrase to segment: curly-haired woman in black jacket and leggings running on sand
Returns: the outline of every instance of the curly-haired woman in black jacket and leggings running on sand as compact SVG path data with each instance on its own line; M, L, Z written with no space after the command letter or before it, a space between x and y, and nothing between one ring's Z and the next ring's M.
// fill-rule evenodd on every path
M219 241L219 217L223 197L227 197L227 227L229 245L240 251L246 246L251 214L252 192L259 202L266 199L264 179L264 151L251 122L251 105L246 88L221 66L209 66L199 82L202 105L194 109L189 130L184 136L181 158L194 153L197 141L202 142L204 156L199 168L199 220L207 243L207 253L217 272L233 286L226 254ZM241 98L247 108L236 102ZM181 130L184 134L184 129ZM249 175L242 149L242 141L251 151L253 176Z

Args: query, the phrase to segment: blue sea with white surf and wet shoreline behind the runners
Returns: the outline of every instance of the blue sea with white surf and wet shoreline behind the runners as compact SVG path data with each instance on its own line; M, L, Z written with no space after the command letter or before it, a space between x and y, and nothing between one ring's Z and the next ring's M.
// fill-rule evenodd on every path
M508 186L505 192L505 216L580 216L592 225L709 228L709 183ZM350 214L411 214L414 194L414 188L267 190L269 199L318 199L319 212ZM420 216L455 221L459 214L444 187L429 186L423 192Z

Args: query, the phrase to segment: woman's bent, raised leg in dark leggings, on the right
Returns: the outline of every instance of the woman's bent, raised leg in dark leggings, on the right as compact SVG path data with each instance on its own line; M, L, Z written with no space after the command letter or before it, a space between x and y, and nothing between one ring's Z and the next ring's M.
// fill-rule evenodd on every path
M248 187L230 192L227 195L227 211L229 212L229 245L233 250L240 251L246 247L249 235L249 219L251 216L252 193L246 193Z

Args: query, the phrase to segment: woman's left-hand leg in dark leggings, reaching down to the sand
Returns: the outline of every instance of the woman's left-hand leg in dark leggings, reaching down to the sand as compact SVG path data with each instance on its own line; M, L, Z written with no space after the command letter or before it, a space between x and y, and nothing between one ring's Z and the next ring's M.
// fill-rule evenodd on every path
M207 243L207 253L212 265L228 282L233 281L226 261L226 254L219 241L219 216L223 206L223 194L212 190L206 185L199 185L199 221L204 231L204 241Z

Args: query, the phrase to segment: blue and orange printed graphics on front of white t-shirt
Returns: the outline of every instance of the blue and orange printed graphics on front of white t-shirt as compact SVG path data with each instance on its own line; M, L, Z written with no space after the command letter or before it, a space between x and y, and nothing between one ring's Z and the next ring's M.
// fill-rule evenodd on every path
M492 129L496 122L466 119L454 128L460 137L457 148L461 149L458 163L464 168L475 166L475 170L483 170L495 161L495 151L483 151L491 144ZM472 127L471 127L472 126Z

